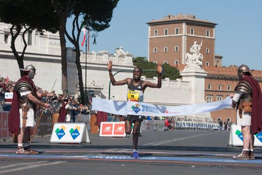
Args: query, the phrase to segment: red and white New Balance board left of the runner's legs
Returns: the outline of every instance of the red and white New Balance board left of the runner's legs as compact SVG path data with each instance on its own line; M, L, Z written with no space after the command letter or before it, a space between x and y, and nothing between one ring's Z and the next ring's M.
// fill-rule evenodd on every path
M102 121L100 124L99 136L126 136L125 133L125 122L105 122Z

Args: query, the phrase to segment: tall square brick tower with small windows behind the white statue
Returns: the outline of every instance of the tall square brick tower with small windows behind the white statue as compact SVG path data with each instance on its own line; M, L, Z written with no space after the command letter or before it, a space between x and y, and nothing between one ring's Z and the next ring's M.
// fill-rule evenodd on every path
M192 14L167 15L148 24L148 60L185 64L186 53L194 41L201 45L203 64L214 66L216 23Z

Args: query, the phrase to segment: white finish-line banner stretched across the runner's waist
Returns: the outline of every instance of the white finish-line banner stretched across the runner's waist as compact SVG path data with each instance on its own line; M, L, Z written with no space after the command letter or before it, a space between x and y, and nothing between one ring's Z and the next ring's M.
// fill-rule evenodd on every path
M92 98L92 110L104 111L119 115L144 115L144 116L176 116L195 113L205 113L230 107L232 99L222 101L204 102L180 106L162 106L134 101L115 101L101 98Z

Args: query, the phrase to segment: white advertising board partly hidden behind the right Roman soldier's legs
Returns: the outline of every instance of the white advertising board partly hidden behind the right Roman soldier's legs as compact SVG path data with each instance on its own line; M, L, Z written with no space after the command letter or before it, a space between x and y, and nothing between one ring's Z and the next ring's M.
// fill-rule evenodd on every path
M255 134L254 146L262 146L262 132ZM232 124L229 134L228 146L243 146L243 133L241 131L241 125Z

